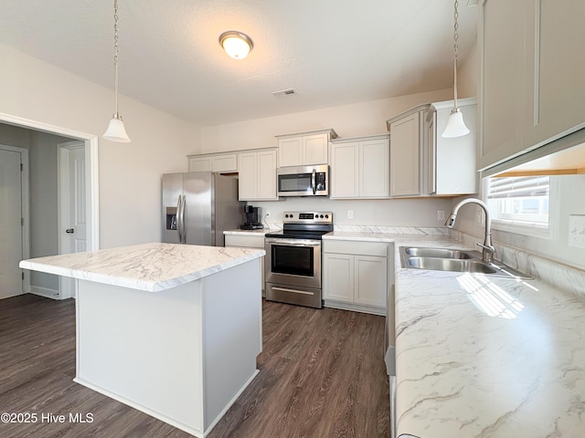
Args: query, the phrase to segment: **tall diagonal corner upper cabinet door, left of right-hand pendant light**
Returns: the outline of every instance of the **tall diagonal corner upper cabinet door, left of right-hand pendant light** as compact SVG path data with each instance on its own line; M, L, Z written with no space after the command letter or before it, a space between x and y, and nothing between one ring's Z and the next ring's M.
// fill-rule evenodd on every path
M420 193L420 113L390 123L390 195Z

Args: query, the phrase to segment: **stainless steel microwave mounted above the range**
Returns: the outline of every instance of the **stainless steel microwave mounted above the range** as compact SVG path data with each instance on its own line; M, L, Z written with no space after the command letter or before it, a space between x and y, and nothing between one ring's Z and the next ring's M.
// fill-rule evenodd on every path
M279 167L276 171L279 196L328 196L329 166Z

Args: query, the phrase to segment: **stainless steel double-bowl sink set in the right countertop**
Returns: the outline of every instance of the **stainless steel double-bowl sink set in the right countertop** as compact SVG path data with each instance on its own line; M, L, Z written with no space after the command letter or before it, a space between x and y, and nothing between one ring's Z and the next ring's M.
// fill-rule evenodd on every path
M482 261L482 254L452 248L400 246L400 265L406 268L431 269L433 271L467 272L488 276L531 278L521 272L493 261Z

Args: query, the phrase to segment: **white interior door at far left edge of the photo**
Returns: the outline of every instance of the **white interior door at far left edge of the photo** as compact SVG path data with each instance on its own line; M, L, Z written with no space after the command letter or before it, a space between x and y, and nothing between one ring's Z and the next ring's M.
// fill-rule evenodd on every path
M21 153L0 146L0 298L22 294Z

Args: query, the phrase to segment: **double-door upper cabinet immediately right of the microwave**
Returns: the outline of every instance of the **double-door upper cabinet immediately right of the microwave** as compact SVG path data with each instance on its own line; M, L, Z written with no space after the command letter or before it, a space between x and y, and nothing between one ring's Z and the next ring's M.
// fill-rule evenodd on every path
M389 196L388 134L331 142L330 197Z

